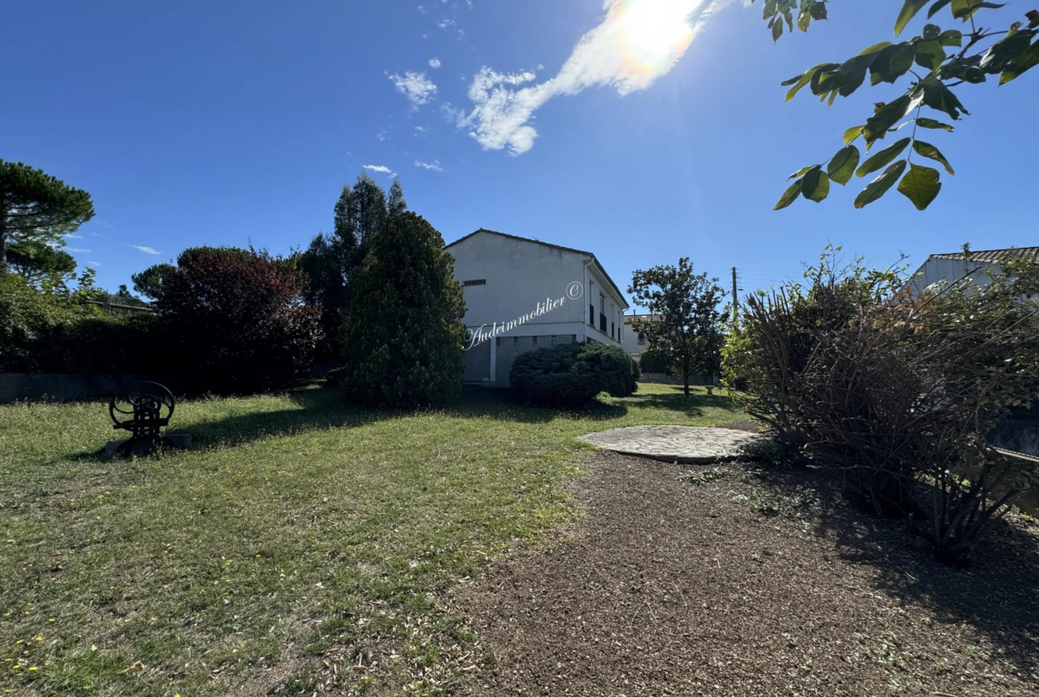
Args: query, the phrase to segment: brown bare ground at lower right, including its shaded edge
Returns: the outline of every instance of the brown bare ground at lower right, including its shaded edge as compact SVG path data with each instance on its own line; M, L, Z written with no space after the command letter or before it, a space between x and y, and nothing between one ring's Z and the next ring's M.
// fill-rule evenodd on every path
M1034 522L954 568L812 470L598 453L576 486L568 538L457 594L460 694L1039 694Z

